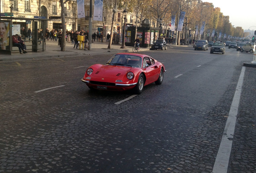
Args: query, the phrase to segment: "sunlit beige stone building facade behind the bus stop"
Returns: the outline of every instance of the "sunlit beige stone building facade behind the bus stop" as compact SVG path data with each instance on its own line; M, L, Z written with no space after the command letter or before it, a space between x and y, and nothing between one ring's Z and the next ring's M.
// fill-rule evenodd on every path
M85 0L85 18L77 18L76 0L64 0L64 2L66 2L64 4L66 29L88 31L90 0ZM0 0L0 13L10 13L10 4L12 4L13 17L22 18L22 20L12 20L13 24L20 24L21 28L32 28L32 24L26 23L26 20L34 18L34 16L43 16L46 19L50 19L47 21L46 28L49 30L62 30L62 21L60 19L61 6L59 0ZM100 32L103 30L104 36L106 36L107 33L110 34L112 15L112 10L103 9L103 21L93 20L92 32ZM126 23L135 23L134 16L135 15L128 14ZM114 20L114 32L122 32L123 22L122 12L117 12L116 19Z

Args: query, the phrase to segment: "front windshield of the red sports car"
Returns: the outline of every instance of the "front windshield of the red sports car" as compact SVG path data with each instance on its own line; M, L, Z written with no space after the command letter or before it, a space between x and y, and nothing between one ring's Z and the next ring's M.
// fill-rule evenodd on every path
M116 54L106 64L107 65L141 67L141 62L142 62L142 60L141 60L140 56Z

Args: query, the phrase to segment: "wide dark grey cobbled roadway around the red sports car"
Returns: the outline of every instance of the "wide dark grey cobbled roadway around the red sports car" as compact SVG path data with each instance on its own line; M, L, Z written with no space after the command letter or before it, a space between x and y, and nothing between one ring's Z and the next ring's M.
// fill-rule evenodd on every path
M109 55L0 62L0 173L255 173L256 71L243 67L253 54L142 53L167 72L140 95L80 81Z

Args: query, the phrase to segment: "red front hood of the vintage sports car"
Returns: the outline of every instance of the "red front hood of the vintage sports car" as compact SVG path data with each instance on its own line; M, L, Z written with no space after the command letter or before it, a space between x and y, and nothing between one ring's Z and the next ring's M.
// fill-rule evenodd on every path
M92 76L97 77L108 77L108 78L117 78L118 76L123 76L126 74L131 67L129 66L118 66L118 65L103 65L91 74Z

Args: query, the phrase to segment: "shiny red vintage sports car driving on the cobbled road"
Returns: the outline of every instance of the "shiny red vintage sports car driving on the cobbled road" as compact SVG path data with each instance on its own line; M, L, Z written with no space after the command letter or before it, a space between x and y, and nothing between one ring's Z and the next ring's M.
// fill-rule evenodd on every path
M90 89L125 91L140 94L144 86L163 82L165 66L145 54L118 53L105 65L90 66L81 79Z

